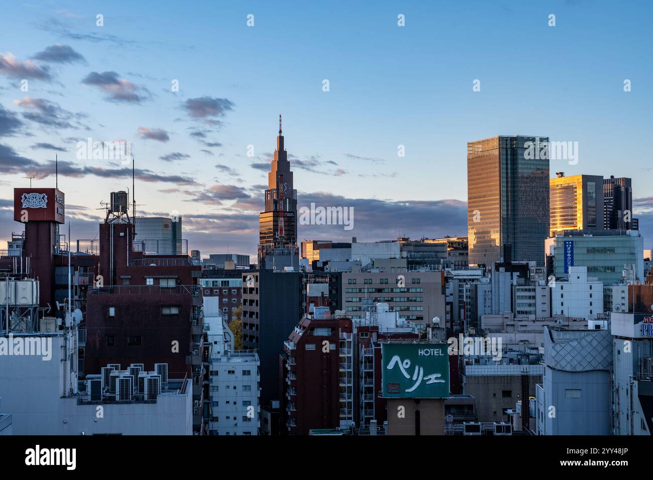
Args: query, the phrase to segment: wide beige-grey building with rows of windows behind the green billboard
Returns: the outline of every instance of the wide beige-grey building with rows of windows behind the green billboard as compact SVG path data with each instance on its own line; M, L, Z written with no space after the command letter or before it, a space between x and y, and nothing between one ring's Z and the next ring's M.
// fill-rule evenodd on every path
M401 319L422 328L446 315L444 272L343 272L342 305L352 319L363 317L363 306L390 305Z

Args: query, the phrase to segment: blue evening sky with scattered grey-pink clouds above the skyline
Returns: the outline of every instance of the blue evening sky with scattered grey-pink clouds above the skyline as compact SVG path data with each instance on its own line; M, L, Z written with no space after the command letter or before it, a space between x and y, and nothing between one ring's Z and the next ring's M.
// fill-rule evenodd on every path
M353 229L299 225L299 240L466 235L467 142L520 134L578 142L551 176L631 177L650 248L652 14L646 1L3 2L0 248L22 230L13 188L54 187L55 155L72 239L97 237L131 165L79 159L91 138L130 142L138 215L178 212L202 257L255 255L279 114L299 206L354 212Z

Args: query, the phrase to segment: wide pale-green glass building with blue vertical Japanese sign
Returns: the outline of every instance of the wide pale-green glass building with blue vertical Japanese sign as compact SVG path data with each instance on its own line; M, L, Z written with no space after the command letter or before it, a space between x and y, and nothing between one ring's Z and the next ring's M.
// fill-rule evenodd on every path
M556 278L566 278L569 266L586 266L588 276L614 285L622 282L629 265L634 265L636 280L645 278L644 239L638 231L565 231L549 240Z

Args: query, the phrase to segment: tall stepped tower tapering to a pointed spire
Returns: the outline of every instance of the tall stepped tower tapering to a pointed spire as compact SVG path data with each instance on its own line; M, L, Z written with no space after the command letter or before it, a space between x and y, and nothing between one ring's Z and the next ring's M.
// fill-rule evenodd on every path
M297 255L297 191L293 188L293 172L288 152L283 146L281 115L274 159L268 172L265 211L259 214L259 268L281 269L298 266ZM270 261L272 256L272 262Z

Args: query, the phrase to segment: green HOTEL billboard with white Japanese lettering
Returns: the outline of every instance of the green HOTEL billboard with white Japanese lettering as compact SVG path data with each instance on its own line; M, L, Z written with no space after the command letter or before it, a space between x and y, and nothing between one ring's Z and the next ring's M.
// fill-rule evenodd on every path
M381 383L385 398L449 396L447 344L381 344Z

